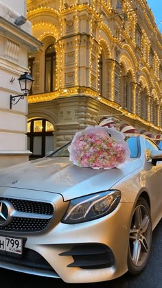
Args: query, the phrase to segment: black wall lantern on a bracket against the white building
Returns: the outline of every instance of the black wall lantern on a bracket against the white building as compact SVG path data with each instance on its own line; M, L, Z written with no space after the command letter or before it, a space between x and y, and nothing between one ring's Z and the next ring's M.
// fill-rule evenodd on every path
M32 76L29 75L27 72L22 74L18 80L19 80L19 84L21 87L21 91L23 91L23 94L16 95L16 96L10 95L10 109L12 109L12 105L16 105L20 101L20 99L23 99L25 96L27 96L30 93L30 90L32 88L32 84L34 81ZM18 99L16 100L17 97Z

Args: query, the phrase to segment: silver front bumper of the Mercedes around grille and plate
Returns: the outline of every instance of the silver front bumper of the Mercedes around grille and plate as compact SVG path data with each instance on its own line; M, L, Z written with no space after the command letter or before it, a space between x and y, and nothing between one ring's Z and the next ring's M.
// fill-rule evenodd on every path
M28 193L30 199L31 196L33 193ZM112 280L128 270L132 203L120 203L115 211L100 219L63 224L60 220L68 203L62 205L60 195L53 195L52 199L51 193L46 193L43 197L41 201L54 201L56 217L41 232L10 232L13 237L26 239L23 256L16 258L7 253L0 254L1 267L61 278L66 283Z

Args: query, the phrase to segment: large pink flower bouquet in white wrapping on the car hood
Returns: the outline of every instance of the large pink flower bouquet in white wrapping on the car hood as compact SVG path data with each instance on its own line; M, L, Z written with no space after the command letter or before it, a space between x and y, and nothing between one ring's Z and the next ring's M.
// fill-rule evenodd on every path
M130 160L124 135L115 128L89 126L76 133L68 149L70 160L80 167L121 168Z

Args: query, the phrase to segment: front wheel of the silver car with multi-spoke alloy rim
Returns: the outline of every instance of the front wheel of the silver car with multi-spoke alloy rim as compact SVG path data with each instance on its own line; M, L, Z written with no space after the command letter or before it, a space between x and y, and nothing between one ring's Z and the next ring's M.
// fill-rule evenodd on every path
M129 247L128 271L139 274L148 262L152 243L150 208L143 198L139 198L132 215Z

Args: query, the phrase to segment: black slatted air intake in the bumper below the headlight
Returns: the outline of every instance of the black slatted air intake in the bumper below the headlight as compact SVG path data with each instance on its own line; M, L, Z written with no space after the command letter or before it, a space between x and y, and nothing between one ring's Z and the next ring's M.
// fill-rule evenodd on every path
M113 252L106 245L89 243L76 245L60 256L71 255L73 263L67 267L80 267L82 269L102 269L115 265Z

